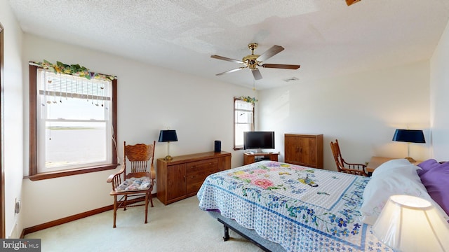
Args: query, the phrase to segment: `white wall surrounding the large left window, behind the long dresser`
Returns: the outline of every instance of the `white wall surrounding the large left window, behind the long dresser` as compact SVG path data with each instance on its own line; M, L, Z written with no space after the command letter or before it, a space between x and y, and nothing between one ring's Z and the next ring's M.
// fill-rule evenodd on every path
M253 90L29 34L25 34L24 38L22 67L26 69L26 94L27 62L30 60L81 64L91 71L118 76L117 137L120 158L123 158L123 141L127 144L157 141L159 131L170 127L177 131L178 137L177 142L170 144L170 155L213 151L214 140L221 140L222 151L232 153L232 167L243 165L241 152L232 150L233 97L253 94ZM25 104L27 106L27 99ZM25 125L28 125L27 119ZM166 143L156 142L155 157L163 158L166 152ZM25 173L27 169L25 167ZM25 179L22 204L25 228L112 204L112 196L109 196L111 185L106 183L107 176L112 172L43 181Z

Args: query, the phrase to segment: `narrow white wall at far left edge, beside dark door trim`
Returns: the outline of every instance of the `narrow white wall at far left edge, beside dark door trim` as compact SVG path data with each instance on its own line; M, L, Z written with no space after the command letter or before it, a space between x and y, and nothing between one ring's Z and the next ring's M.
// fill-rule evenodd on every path
M4 27L4 179L6 237L18 238L22 230L20 214L14 214L15 199L22 200L23 94L22 30L8 1L0 1L0 23ZM17 228L15 225L17 223ZM18 232L16 232L18 230Z

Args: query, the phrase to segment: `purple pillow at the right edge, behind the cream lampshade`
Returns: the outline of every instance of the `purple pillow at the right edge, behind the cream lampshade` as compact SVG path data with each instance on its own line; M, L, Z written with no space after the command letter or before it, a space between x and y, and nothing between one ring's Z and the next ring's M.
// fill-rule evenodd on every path
M449 162L427 170L420 178L430 197L449 214Z

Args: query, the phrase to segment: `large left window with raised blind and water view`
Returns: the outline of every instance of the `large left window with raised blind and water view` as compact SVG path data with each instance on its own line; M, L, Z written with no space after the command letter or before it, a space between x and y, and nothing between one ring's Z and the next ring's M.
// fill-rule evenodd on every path
M29 179L114 169L116 79L29 66Z

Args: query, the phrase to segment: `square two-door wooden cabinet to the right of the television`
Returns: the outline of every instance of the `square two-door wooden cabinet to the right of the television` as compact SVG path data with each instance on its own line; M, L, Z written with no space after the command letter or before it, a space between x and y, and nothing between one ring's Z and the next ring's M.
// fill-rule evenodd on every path
M323 169L323 134L285 134L285 162Z

